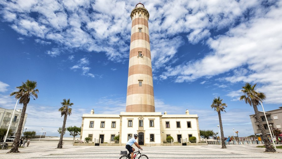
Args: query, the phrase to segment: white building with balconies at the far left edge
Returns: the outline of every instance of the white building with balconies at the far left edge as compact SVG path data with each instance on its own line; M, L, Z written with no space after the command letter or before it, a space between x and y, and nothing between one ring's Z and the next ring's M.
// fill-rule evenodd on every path
M19 123L19 119L20 119L21 113L22 113L21 109L15 110L15 115L12 117L13 111L14 111L14 109L0 108L0 128L1 129L8 129L10 121L12 120L12 125L10 127L10 130L12 130L11 136L15 136L16 132L18 131L18 123ZM28 114L25 114L25 116L24 116L23 127L26 123L27 115ZM22 129L22 132L23 131L24 131L24 129Z

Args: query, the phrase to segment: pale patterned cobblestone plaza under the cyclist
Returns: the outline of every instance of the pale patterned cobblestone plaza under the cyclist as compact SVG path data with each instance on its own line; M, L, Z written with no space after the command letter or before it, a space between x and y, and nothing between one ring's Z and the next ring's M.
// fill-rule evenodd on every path
M0 150L0 158L119 158L124 146L72 146L67 144L63 149L56 149L57 143L31 143L29 147L20 148L21 153L6 154L8 150ZM149 159L187 159L187 158L281 158L282 150L276 153L266 153L257 145L229 145L221 149L218 145L207 146L152 146L143 147L143 153Z

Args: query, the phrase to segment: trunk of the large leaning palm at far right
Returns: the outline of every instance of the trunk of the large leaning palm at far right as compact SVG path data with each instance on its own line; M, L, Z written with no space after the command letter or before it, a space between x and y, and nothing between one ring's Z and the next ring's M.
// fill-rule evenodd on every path
M274 149L274 147L272 147L272 145L270 144L270 142L267 138L267 134L265 132L264 125L263 125L261 118L260 118L260 115L259 115L258 107L256 105L253 105L253 110L255 111L257 122L259 122L259 128L260 128L262 136L263 136L264 145L265 145L265 151L264 152L276 152L276 150Z

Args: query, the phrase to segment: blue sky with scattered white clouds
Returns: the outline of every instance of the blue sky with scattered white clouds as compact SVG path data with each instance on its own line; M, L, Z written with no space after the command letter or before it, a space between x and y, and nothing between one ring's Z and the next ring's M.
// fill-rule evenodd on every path
M27 131L59 136L63 99L74 103L66 126L82 114L125 111L130 13L139 1L0 1L0 107L27 79ZM225 136L253 135L253 107L239 101L246 82L266 94L265 111L282 106L282 2L278 0L144 0L149 11L155 110L198 114L201 130L218 132L215 97ZM21 109L23 105L18 105ZM262 107L258 109L262 111ZM69 133L66 132L66 137Z

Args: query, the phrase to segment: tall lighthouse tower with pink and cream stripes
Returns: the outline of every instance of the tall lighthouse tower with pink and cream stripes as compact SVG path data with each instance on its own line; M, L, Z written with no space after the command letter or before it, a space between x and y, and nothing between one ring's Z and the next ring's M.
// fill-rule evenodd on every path
M149 12L138 3L130 14L132 20L126 112L155 112L150 51Z

